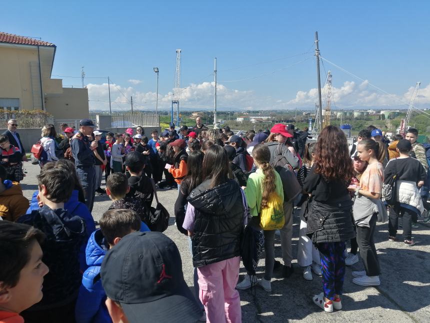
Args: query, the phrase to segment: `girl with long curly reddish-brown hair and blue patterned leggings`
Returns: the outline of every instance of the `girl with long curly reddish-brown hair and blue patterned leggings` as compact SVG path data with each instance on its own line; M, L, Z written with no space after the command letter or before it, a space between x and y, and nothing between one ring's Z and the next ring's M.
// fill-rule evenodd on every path
M341 309L345 241L355 236L347 187L353 176L345 134L327 126L318 135L313 165L303 189L309 193L307 235L319 251L322 289L313 302L332 312Z

